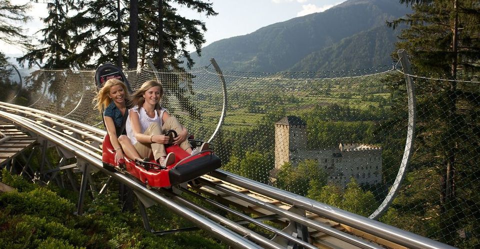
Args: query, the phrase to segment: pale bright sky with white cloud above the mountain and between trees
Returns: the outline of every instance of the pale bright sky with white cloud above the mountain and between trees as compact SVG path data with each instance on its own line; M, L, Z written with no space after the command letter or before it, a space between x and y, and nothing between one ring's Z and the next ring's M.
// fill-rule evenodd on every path
M208 29L204 33L206 46L214 41L251 33L261 27L297 16L322 12L344 0L205 0L212 3L216 16L206 17L186 7L178 7L178 12L188 18L199 19ZM11 0L14 4L23 4L29 0ZM26 33L34 38L35 31L43 26L40 17L47 16L46 1L30 2L28 12L32 18L22 24ZM18 23L16 23L18 25ZM192 48L191 51L194 49ZM22 55L20 47L0 41L0 51L7 55Z

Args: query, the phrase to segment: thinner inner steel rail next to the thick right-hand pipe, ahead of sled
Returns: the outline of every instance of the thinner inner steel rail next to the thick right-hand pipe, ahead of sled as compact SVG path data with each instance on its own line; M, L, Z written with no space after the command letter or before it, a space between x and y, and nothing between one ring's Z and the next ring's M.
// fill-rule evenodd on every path
M284 218L288 218L290 219L291 221L295 221L295 222L298 222L300 224L303 224L309 228L312 228L312 229L315 229L317 231L320 231L324 234L327 234L329 236L332 236L332 237L335 237L337 239L340 239L344 242L347 242L351 245L354 245L354 246L357 246L357 247L360 247L360 248L364 248L364 249L383 249L382 247L378 246L378 245L375 245L375 244L372 244L372 243L369 243L367 241L363 241L357 237L354 237L354 236L351 236L351 235L348 235L346 233L343 233L341 231L338 231L332 227L329 227L329 226L326 226L324 224L320 224L318 222L315 222L315 221L312 221L310 219L307 219L303 216L300 216L300 215L297 215L297 214L294 214L292 212L289 212L287 210L284 210L284 209L281 209L281 208L278 208L278 207L275 207L269 203L265 203L265 202L262 202L262 201L259 201L253 197L250 197L250 196L247 196L245 194L242 194L242 193L238 193L236 191L233 191L233 190L230 190L228 188L225 188L223 186L220 186L218 184L214 184L214 183L211 183L209 181L206 181L204 179L200 179L201 182L205 183L205 184L208 184L210 185L211 187L213 187L214 189L216 190L219 190L225 194L228 194L228 195L231 195L231 196L234 196L240 200L243 200L245 202L248 202L248 203L251 203L251 204L254 204L255 206L258 206L258 207L261 207L265 210L268 210L270 212L273 212L274 214L277 214L277 215L280 215L280 216L283 216Z

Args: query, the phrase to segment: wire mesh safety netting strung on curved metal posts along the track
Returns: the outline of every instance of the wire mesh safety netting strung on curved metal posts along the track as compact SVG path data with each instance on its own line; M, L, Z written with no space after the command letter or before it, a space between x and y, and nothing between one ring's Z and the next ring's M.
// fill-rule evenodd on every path
M134 91L159 79L161 104L195 139L212 139L222 169L370 216L400 184L381 222L461 248L479 246L478 82L413 76L412 156L405 75L395 67L344 72L126 70ZM12 81L15 82L15 81ZM103 129L94 70L35 70L3 101ZM12 96L14 96L12 98ZM410 123L411 125L411 123ZM215 136L213 136L215 135ZM390 193L391 196L391 193Z

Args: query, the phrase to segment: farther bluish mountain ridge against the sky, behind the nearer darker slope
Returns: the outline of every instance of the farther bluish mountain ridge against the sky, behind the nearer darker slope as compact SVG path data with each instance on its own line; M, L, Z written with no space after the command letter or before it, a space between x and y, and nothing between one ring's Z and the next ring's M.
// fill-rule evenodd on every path
M190 56L197 66L209 64L208 59L214 57L222 70L288 71L298 68L296 65L306 56L359 32L384 26L385 20L398 18L407 10L391 0L347 0L323 12L215 41L202 48L201 57L196 53Z

